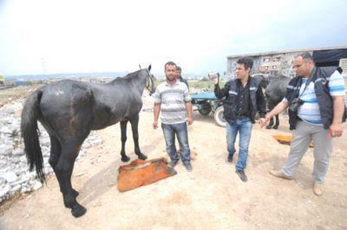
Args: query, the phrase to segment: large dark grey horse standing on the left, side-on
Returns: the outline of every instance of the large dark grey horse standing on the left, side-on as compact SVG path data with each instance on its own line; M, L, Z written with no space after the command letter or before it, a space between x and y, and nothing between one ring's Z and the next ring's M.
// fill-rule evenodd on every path
M38 136L38 121L50 135L49 163L55 171L62 192L64 205L72 209L74 217L81 217L86 208L76 201L79 192L72 188L71 176L74 161L84 139L91 130L101 130L120 122L122 130L122 161L129 161L125 154L127 121L132 126L135 154L141 153L138 143L139 113L142 93L146 87L154 93L153 76L148 69L140 69L108 84L91 84L62 80L42 86L25 101L21 115L21 134L30 171L35 167L43 183L45 173Z

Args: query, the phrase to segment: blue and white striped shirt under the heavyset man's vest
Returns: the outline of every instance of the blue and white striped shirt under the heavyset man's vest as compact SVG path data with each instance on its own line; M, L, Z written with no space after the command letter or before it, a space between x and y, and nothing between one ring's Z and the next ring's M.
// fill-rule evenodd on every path
M327 79L329 82L329 93L331 96L344 96L345 87L344 80L339 71L334 71L330 78ZM323 125L322 117L319 112L318 100L316 93L314 93L314 83L311 81L309 85L306 86L307 79L302 79L302 85L300 87L300 99L304 100L305 103L300 106L297 110L297 115L305 122L309 122L312 125ZM302 91L304 91L302 93Z

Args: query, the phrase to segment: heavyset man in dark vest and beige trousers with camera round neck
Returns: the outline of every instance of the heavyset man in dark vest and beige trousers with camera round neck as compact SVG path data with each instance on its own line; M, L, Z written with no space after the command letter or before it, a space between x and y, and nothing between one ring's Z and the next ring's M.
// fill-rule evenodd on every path
M289 82L285 98L260 120L261 126L266 125L271 117L289 108L290 130L294 130L285 166L270 173L292 179L313 139L313 192L322 195L333 147L331 138L341 137L346 120L344 81L337 67L315 67L309 52L295 57L294 70L297 76Z

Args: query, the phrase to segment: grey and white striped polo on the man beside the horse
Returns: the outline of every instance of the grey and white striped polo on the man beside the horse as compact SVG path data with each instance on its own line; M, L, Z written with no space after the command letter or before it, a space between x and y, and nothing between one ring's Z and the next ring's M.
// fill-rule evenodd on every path
M161 104L161 122L168 125L186 122L186 101L190 101L188 87L181 81L173 86L166 81L157 86L154 103Z

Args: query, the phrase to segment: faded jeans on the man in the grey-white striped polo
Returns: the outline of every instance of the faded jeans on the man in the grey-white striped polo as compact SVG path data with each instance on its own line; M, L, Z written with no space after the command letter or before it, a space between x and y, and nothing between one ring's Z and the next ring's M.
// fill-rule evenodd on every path
M171 161L178 161L178 154L175 144L175 134L181 149L181 159L183 163L190 161L190 148L188 144L187 123L168 125L161 123L161 129L164 132L166 142L166 152L169 154Z

